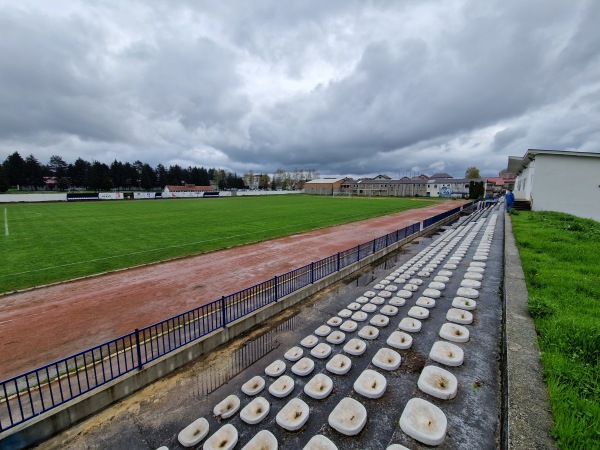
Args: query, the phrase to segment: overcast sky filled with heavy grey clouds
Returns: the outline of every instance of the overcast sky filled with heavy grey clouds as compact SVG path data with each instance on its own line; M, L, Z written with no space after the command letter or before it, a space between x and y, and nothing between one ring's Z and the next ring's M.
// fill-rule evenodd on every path
M0 161L497 176L600 152L597 0L0 0Z

